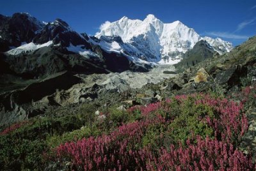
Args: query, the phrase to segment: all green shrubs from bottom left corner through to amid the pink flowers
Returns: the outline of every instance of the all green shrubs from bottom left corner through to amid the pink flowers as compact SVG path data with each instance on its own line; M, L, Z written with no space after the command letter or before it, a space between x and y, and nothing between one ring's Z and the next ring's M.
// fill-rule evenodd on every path
M255 103L255 100L251 100L254 93L252 88L244 89L244 96L249 94L246 101ZM206 119L220 119L211 98L215 101L221 99L212 95L206 97L206 100L202 97L202 94L175 96L161 103L153 103L147 107L134 106L128 110L114 106L102 108L99 114L95 114L95 107L85 104L77 114L29 119L28 122L15 124L13 128L10 126L6 131L2 131L0 167L3 170L42 170L52 162L47 158L56 155L54 149L61 144L111 135L118 130L117 128L125 128L127 124L136 122L148 126L140 132L141 139L129 142L132 150L150 147L152 151L158 151L161 147L168 149L170 145L186 147L187 140L196 143L197 135L214 139L216 132L214 135L214 128ZM202 99L206 102L208 100L207 103L212 105L203 103L200 101ZM234 144L237 144L239 139L235 141ZM133 144L134 142L136 144Z

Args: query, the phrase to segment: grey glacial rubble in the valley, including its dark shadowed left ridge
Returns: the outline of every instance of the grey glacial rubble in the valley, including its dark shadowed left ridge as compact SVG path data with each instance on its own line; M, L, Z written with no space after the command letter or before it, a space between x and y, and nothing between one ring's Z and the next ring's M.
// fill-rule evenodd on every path
M0 94L2 108L0 123L12 123L44 114L50 107L65 107L94 103L94 101L113 104L121 98L115 96L120 96L124 92L141 89L144 85L157 84L166 78L174 77L173 70L173 66L159 66L146 73L131 71L91 75L74 75L70 71L56 73L43 80L34 80L22 89ZM164 71L172 73L166 74ZM10 82L13 82L13 79ZM19 83L16 81L13 84ZM111 96L114 96L115 100L110 98Z

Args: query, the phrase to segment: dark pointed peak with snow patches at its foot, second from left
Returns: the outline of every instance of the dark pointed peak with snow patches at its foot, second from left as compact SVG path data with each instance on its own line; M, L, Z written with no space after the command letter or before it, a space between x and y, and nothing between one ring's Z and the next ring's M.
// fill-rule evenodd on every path
M20 47L9 50L7 54L18 55L51 45L66 47L68 51L76 52L81 54L81 56L85 56L85 54L95 56L95 54L90 51L91 46L90 43L86 41L86 38L74 31L61 19L45 23L44 27L35 34L30 43L23 42Z

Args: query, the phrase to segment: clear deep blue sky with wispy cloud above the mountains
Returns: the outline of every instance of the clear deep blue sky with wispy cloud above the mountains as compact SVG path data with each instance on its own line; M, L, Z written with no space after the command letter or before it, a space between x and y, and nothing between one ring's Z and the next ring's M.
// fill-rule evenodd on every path
M149 13L163 22L180 20L201 36L220 37L233 45L256 34L255 0L0 0L0 6L2 15L28 12L45 22L60 18L91 35L106 20L143 20Z

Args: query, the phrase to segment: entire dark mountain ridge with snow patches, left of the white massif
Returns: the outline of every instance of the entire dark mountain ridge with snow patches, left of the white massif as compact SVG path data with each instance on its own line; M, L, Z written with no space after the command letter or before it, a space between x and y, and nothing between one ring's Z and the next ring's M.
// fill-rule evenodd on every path
M103 41L108 39L77 33L61 19L39 22L28 13L0 15L0 66L4 66L4 73L36 78L60 71L92 74L151 68L147 61L120 52L118 46L116 51L106 49L108 43L100 43Z

